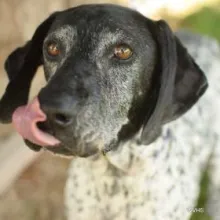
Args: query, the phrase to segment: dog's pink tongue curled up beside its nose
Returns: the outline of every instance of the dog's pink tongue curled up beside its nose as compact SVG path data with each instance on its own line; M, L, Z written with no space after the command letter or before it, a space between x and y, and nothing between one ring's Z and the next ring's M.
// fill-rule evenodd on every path
M60 143L59 140L37 127L37 122L45 120L46 115L40 109L37 97L28 105L18 107L12 116L12 123L15 129L24 139L40 146L58 145Z

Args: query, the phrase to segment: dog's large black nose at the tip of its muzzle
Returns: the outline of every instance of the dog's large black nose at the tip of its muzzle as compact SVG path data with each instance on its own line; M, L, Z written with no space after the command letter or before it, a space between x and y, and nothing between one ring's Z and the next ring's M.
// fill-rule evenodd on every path
M52 78L47 86L41 89L38 98L49 124L66 127L72 123L89 95L81 81L66 82L61 76Z

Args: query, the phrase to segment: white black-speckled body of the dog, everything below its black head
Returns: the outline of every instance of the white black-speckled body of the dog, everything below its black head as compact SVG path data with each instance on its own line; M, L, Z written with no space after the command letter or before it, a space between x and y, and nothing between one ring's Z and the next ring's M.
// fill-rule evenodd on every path
M137 146L137 136L106 156L73 159L65 190L68 220L189 220L209 165L209 202L197 208L220 219L220 47L206 37L177 34L207 73L209 89L154 143Z

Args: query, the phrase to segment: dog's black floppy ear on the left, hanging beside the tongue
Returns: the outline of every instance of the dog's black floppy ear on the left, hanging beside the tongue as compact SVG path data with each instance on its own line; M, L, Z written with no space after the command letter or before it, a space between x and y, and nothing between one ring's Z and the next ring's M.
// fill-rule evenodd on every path
M44 38L57 14L52 14L41 23L32 39L8 56L5 70L10 81L0 100L0 122L10 123L14 110L27 103L31 81L42 64Z

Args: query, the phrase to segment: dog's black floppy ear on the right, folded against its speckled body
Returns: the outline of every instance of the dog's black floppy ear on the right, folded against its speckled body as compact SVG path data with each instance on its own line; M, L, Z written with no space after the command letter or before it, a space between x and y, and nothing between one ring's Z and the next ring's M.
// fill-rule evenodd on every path
M156 101L146 118L141 142L150 144L163 124L189 110L208 87L206 77L164 21L151 24L159 51ZM159 71L159 72L158 72Z

